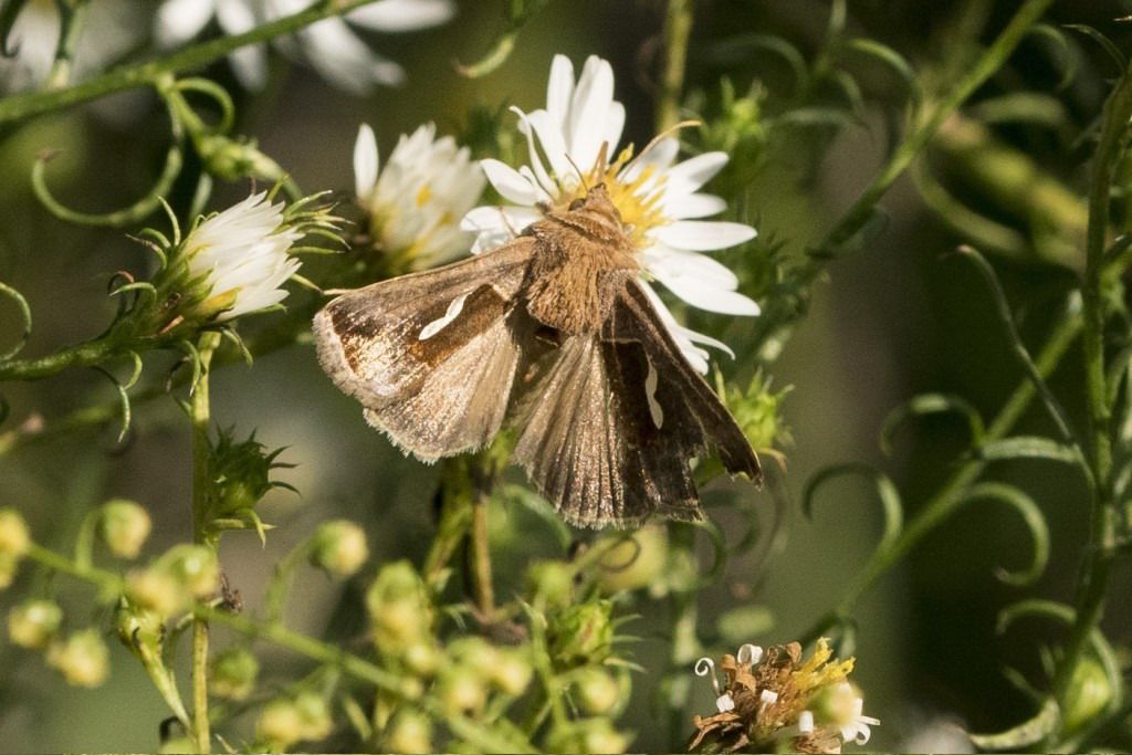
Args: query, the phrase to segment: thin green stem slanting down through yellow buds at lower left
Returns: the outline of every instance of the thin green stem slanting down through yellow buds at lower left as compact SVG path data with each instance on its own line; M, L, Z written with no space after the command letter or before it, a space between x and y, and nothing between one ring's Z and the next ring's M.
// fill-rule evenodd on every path
M68 574L77 580L93 584L103 594L121 594L125 589L122 578L118 574L94 566L76 565L65 556L49 550L38 543L32 544L27 558L61 574ZM314 661L341 669L349 676L389 693L398 700L419 707L438 721L443 721L453 733L468 740L481 752L535 752L531 743L521 738L517 732L499 733L463 715L449 714L435 700L429 697L417 700L415 696L419 694L419 689L413 685L406 684L403 677L386 671L363 658L348 653L337 645L292 632L281 624L264 624L247 616L229 614L206 603L198 603L194 608L194 614L205 621L229 627L246 637L264 640Z

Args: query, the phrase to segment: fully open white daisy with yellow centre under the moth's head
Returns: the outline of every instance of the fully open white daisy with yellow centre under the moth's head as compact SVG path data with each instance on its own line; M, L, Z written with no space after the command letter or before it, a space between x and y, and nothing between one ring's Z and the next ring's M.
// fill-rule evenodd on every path
M625 126L625 106L614 100L614 70L591 55L575 83L574 67L555 55L547 86L547 106L524 113L530 163L517 171L497 160L481 161L488 180L509 205L477 207L463 226L479 235L473 251L492 249L539 220L544 203L556 211L604 183L621 218L632 229L643 274L700 309L753 316L758 304L737 291L736 275L703 252L749 241L755 229L741 223L696 220L723 212L719 197L700 194L728 156L711 152L676 162L679 143L660 137L636 158L632 147L617 153ZM540 155L541 152L541 155ZM546 162L543 162L543 156ZM578 171L583 175L578 175ZM686 328L646 284L650 298L687 360L707 371L707 352L697 344L730 350L719 341Z

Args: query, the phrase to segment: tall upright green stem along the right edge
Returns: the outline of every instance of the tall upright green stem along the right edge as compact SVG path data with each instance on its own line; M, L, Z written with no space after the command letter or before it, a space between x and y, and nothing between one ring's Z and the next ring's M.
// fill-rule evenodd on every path
M1104 615L1108 577L1116 555L1116 500L1114 499L1112 410L1105 381L1105 290L1110 281L1105 269L1108 240L1109 201L1113 174L1129 138L1132 119L1132 69L1126 71L1105 102L1103 126L1097 152L1092 157L1089 188L1089 226L1086 237L1084 281L1081 286L1084 303L1084 375L1091 436L1090 462L1096 480L1090 512L1090 539L1086 563L1081 568L1077 601L1077 620L1065 643L1065 654L1054 678L1054 694L1064 710L1065 694L1073 672L1089 641L1090 633Z

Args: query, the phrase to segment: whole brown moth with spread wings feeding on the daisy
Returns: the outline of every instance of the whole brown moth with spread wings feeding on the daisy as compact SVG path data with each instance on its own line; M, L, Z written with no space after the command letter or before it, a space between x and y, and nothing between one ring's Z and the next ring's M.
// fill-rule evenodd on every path
M318 359L422 461L515 427L514 461L572 524L700 520L691 457L762 472L638 275L597 186L495 251L338 297L315 317Z

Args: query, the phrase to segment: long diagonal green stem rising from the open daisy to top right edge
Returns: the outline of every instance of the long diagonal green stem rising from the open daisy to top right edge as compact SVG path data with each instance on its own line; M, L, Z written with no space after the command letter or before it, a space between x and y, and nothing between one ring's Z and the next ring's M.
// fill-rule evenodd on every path
M920 119L841 220L811 249L806 261L792 272L791 283L803 293L799 297L781 295L770 299L755 325L755 343L761 344L764 357L769 355L767 358L772 359L781 352L781 342L786 333L805 312L805 292L808 288L822 275L830 261L839 256L846 242L868 224L876 204L924 151L944 121L1006 62L1014 48L1052 2L1053 0L1026 0L1022 3L975 66L947 89L947 93L931 109L929 114Z

